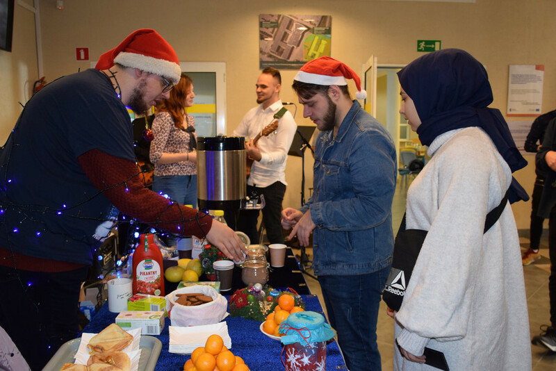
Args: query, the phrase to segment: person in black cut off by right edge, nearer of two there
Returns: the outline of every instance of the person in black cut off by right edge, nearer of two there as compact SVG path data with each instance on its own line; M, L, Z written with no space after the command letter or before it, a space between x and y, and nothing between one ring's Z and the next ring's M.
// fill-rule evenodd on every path
M550 326L541 326L542 332L534 336L531 343L543 345L556 352L556 118L546 126L543 143L537 152L536 165L537 170L545 175L546 185L539 201L538 216L548 219Z

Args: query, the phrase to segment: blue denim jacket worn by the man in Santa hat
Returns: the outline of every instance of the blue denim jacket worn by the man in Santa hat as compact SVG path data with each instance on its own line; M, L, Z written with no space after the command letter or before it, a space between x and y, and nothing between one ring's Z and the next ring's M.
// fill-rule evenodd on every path
M317 275L367 274L389 267L394 237L391 206L398 175L394 143L354 101L336 138L318 135L311 210Z

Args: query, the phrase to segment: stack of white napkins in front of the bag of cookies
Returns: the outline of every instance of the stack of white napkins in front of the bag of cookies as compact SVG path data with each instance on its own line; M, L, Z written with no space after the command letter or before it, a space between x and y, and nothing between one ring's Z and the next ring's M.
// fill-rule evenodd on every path
M177 327L170 326L170 345L168 352L177 354L191 354L197 347L204 347L206 339L213 333L220 335L224 346L231 349L231 338L226 322L202 324L199 326Z

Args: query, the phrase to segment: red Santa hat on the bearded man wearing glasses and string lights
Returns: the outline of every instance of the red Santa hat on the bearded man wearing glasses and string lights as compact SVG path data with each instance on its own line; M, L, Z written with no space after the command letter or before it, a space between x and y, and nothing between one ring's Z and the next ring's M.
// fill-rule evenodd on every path
M150 28L131 33L120 45L102 54L96 69L108 69L118 63L124 67L138 68L165 76L178 83L181 76L179 60L174 49Z

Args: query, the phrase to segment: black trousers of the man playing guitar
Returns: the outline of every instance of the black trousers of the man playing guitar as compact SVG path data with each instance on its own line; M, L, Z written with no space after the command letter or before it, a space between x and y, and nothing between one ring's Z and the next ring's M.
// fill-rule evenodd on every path
M265 188L247 186L247 195L250 196L253 192L265 197L266 204L263 208L263 223L265 224L268 241L271 244L284 243L284 233L282 233L280 219L286 186L280 181L272 183ZM239 213L238 231L245 233L254 245L261 242L259 241L261 236L259 236L256 229L258 218L258 210L242 210Z

